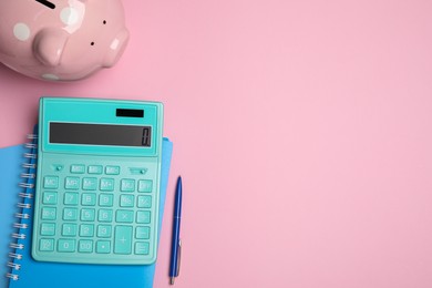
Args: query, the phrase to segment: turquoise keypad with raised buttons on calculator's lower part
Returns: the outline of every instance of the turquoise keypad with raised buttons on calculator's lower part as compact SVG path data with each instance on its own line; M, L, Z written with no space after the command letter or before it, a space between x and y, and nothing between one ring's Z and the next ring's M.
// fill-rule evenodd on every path
M45 169L37 196L33 237L39 257L58 261L65 255L71 263L153 261L158 206L154 166L68 161L45 166L62 168Z

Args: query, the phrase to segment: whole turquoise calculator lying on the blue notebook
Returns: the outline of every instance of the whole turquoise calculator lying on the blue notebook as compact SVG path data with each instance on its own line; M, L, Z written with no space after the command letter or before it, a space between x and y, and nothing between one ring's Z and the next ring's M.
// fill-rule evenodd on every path
M163 105L41 97L32 257L156 259Z

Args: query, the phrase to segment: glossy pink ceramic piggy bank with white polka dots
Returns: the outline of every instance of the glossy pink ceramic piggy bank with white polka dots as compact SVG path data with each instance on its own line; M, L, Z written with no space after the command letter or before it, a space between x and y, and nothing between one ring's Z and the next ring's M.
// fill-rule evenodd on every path
M121 0L0 0L0 62L31 78L84 79L127 40Z

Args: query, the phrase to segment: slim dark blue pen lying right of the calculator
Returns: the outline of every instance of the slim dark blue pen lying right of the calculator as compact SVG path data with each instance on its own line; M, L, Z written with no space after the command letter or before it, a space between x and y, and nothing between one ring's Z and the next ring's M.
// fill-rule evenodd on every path
M182 241L179 239L179 226L182 218L182 177L177 179L174 199L173 241L171 246L169 284L174 285L174 278L178 277Z

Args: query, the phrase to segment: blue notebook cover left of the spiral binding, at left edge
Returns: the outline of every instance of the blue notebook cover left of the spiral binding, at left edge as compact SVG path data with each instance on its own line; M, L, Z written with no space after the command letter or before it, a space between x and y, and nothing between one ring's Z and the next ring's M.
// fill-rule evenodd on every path
M0 288L8 287L4 275L9 271L8 254L12 250L9 248L10 236L16 232L12 223L17 220L13 215L20 200L18 183L21 182L20 174L23 172L21 163L24 152L23 145L0 148Z

